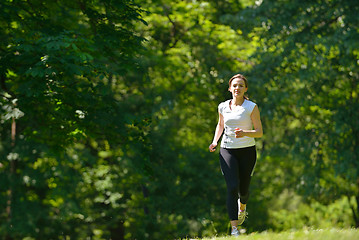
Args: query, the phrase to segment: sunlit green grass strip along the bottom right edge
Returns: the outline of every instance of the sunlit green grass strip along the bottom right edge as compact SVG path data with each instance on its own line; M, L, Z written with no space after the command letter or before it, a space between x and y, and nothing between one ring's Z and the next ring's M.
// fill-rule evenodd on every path
M358 229L320 229L320 230L298 230L288 232L262 232L243 234L239 237L215 237L203 238L202 240L357 240Z

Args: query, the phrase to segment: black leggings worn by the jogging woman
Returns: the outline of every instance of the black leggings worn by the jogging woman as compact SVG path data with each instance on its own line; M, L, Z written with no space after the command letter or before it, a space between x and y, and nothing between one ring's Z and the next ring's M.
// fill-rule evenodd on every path
M221 148L222 173L227 183L227 210L230 220L238 220L238 198L247 204L249 184L257 161L256 147Z

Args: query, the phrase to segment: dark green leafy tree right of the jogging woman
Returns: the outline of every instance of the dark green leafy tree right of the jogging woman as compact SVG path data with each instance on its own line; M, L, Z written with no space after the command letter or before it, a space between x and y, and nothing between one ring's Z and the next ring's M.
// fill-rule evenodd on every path
M264 154L292 173L281 189L323 203L355 196L356 226L357 11L355 1L263 1L232 18L253 16L245 32L260 36L250 78L262 83Z

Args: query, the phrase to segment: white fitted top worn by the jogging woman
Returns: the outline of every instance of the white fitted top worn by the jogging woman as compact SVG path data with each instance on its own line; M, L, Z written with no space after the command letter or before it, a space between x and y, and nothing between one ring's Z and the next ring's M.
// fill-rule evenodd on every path
M221 141L221 147L244 148L254 146L254 138L247 136L236 138L234 130L236 128L240 128L243 130L253 129L251 113L256 104L252 101L245 99L242 106L232 111L229 107L230 102L231 100L227 100L218 105L218 111L223 115L224 119L224 131Z

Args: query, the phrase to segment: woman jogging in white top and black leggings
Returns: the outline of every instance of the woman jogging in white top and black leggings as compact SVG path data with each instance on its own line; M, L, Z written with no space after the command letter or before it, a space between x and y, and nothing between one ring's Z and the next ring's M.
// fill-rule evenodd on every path
M239 235L237 226L247 217L249 184L257 160L254 138L263 135L259 109L244 95L247 90L248 82L243 75L234 75L229 80L232 99L218 105L219 120L209 146L214 152L223 133L219 159L227 184L227 210L233 236Z

